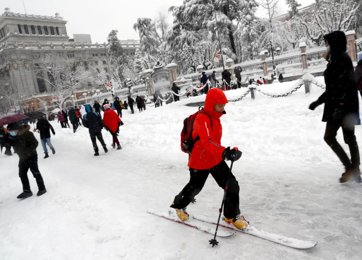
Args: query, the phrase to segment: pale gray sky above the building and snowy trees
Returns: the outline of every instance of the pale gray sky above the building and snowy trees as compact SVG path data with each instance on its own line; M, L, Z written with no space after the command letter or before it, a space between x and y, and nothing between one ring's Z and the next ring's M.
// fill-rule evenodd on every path
M285 0L280 0L280 14L286 12ZM314 0L299 0L306 6ZM170 23L172 14L168 9L180 5L182 0L24 0L28 14L54 16L59 12L67 23L68 35L89 33L92 42L103 43L112 29L118 30L121 40L138 39L133 24L138 17L155 18L159 12L168 15ZM22 0L1 0L0 12L9 7L10 11L25 13ZM258 14L262 11L258 11Z

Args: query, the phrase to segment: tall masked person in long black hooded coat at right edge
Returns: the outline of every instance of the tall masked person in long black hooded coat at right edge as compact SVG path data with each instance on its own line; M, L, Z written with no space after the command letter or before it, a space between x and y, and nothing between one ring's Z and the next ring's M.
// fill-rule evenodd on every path
M314 110L324 104L322 121L327 122L324 140L346 168L340 182L361 181L360 151L355 135L355 126L361 125L358 89L353 63L346 52L346 35L342 31L334 31L325 35L324 39L327 50L330 48L324 56L328 61L324 71L326 91L310 104L309 109ZM340 128L350 148L351 159L337 142L337 131Z

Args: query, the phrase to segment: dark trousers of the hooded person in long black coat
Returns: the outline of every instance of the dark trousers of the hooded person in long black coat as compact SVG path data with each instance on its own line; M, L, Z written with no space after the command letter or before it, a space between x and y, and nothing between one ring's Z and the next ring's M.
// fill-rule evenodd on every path
M343 138L345 143L350 147L351 160L343 150L342 146L337 142L337 131L342 127ZM336 124L327 122L326 132L324 134L324 140L336 153L346 169L359 168L360 167L360 150L355 135L355 126L350 124Z

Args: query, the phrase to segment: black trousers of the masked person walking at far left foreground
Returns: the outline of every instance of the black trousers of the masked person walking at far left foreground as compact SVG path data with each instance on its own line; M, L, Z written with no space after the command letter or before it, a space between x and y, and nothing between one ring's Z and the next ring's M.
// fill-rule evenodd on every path
M38 185L39 191L45 189L43 177L41 176L38 168L38 155L34 155L26 160L19 161L19 177L21 183L23 185L23 191L29 192L30 191L30 184L28 179L28 170L32 172L36 184Z

